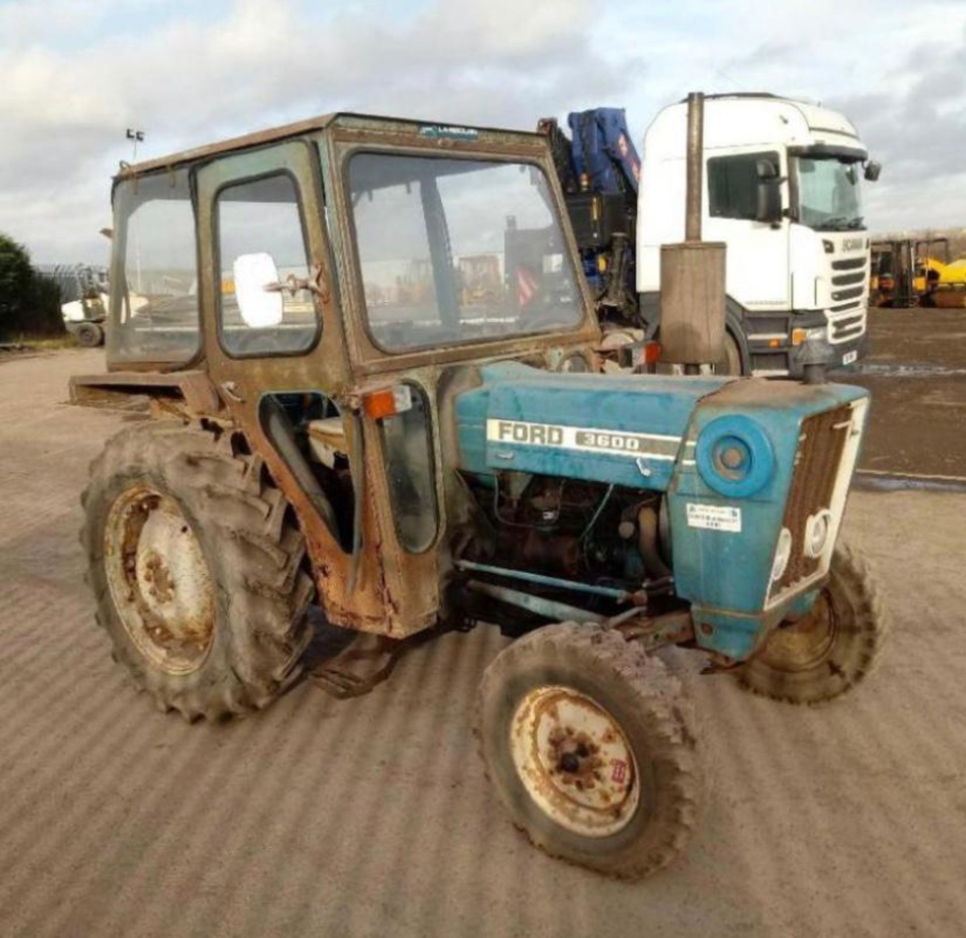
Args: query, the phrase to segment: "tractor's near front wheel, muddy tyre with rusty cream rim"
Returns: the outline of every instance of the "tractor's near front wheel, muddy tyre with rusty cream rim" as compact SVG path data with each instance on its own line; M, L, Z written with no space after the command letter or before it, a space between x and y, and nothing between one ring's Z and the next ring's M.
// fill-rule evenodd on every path
M619 633L547 626L487 668L476 735L503 806L551 856L637 879L684 847L703 806L690 701Z

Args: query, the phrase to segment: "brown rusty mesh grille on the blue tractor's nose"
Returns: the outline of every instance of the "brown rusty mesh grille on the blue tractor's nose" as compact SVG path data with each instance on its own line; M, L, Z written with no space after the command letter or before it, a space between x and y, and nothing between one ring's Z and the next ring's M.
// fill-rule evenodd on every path
M842 452L851 426L852 410L847 405L835 411L817 413L802 423L782 521L791 532L791 556L781 578L772 583L770 597L808 579L818 570L821 557L811 557L805 552L805 527L811 515L832 505Z

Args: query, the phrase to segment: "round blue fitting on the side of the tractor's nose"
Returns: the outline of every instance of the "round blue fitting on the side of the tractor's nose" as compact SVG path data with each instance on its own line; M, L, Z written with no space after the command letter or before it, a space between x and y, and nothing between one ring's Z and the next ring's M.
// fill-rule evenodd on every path
M719 495L747 498L771 481L775 452L768 434L751 417L729 414L701 430L696 462L705 484Z

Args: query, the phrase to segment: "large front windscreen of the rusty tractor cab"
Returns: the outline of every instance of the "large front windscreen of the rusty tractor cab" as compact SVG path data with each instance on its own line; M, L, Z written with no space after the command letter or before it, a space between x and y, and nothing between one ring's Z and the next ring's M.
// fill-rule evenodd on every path
M569 249L536 166L359 153L349 180L368 324L381 348L582 322Z

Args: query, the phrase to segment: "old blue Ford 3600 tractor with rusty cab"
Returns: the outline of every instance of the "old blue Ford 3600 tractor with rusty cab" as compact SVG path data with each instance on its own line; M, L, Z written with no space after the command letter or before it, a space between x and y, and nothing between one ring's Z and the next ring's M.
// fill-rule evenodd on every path
M705 791L660 649L797 703L867 674L882 619L838 538L866 392L604 373L546 137L329 115L125 166L113 207L107 371L71 396L152 419L92 465L82 543L160 709L251 713L306 672L353 696L496 623L500 801L640 877Z

